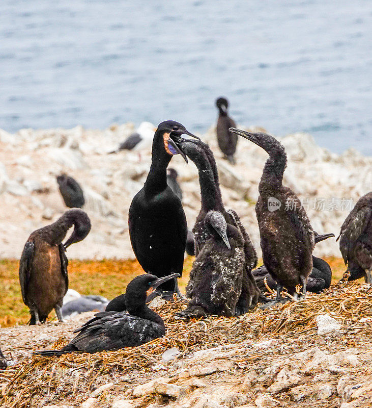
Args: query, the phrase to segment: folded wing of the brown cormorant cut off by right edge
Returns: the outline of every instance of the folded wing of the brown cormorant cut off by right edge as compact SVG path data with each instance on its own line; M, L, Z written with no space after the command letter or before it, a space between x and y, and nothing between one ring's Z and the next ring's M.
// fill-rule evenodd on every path
M364 233L371 218L372 209L362 207L359 211L352 211L341 226L340 251L345 265L348 263L349 253L359 237ZM337 238L337 239L338 239Z

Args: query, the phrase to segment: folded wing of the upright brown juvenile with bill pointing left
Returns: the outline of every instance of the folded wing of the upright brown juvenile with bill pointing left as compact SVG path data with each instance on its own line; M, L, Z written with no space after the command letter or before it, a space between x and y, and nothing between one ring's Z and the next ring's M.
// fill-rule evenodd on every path
M282 203L282 206L288 208L287 214L290 216L290 220L295 226L298 238L304 242L309 243L311 245L311 248L314 249L314 233L310 224L309 217L302 207L301 201L298 199L297 195L288 187L282 187L282 190L284 190L284 198L286 199L285 203Z

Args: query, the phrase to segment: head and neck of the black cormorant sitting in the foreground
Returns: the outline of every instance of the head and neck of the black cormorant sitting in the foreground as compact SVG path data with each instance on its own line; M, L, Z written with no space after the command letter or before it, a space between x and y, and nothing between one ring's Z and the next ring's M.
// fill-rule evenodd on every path
M125 291L125 302L128 309L135 305L144 305L147 297L147 291L150 288L156 289L164 282L180 277L179 273L172 273L171 275L158 278L150 273L144 273L143 275L136 276L129 282Z

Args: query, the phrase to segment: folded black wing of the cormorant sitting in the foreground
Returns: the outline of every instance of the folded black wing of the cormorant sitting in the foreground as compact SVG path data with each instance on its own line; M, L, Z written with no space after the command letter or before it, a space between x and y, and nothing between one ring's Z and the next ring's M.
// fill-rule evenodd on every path
M97 313L71 341L79 351L114 351L134 347L162 336L160 327L147 319L120 312ZM75 333L74 332L74 333Z

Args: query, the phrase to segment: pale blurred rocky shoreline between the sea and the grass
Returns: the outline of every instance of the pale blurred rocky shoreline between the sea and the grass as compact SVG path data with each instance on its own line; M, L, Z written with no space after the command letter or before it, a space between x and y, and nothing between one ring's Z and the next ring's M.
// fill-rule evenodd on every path
M134 130L133 123L113 124L105 130L81 126L68 130L22 129L16 134L0 130L3 209L0 258L19 258L28 235L66 211L55 180L61 172L73 176L83 188L84 210L93 226L87 239L69 248L69 257L134 258L128 234L128 210L134 194L146 180L151 151L141 151L140 155L133 151L108 154ZM222 159L214 126L198 136L210 144L215 154L226 208L238 212L260 254L254 203L266 152L241 139L237 165L231 166ZM355 149L336 155L319 147L311 135L304 133L278 139L288 155L284 184L302 199L314 230L320 234L332 232L337 237L355 202L371 189L372 157L364 157ZM179 173L183 206L191 228L200 207L196 168L180 156L172 159L170 167ZM320 244L314 254L340 256L335 239Z

